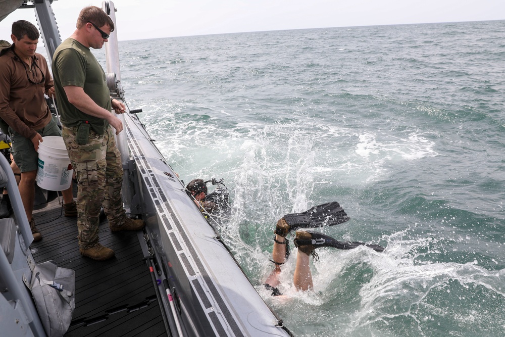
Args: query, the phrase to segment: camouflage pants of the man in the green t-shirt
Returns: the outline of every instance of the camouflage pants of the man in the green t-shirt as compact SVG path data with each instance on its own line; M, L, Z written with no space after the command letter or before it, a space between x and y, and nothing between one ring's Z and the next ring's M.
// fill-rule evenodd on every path
M85 145L75 141L76 129L64 126L63 139L77 178L79 248L88 249L98 243L100 207L110 226L123 225L127 219L121 196L123 167L110 126L103 135L90 130Z

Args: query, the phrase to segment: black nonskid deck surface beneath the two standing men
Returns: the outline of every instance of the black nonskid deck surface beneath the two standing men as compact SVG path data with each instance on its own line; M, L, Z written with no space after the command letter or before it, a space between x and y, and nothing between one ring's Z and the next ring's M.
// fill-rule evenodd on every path
M137 233L113 233L105 219L99 227L100 243L116 256L93 261L79 254L77 218L60 214L58 198L35 207L43 239L30 249L36 263L54 260L75 271L75 311L65 336L166 336Z

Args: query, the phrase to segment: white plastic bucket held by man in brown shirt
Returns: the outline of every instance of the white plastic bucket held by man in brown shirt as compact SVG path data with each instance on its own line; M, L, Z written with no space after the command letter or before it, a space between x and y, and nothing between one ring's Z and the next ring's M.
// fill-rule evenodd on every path
M47 190L65 190L72 183L73 172L63 137L42 137L38 145L37 185Z

